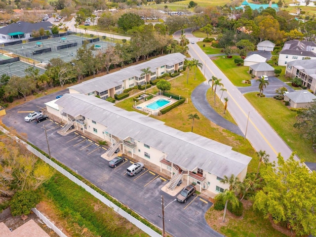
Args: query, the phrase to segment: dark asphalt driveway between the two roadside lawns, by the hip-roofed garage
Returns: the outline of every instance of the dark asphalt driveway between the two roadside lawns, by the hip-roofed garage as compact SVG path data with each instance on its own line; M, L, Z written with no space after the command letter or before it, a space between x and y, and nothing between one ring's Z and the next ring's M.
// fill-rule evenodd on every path
M269 85L267 85L266 88L263 89L263 93L266 95L266 97L273 97L276 95L276 89L280 87L286 87L288 92L295 91L291 86L284 83L280 79L276 77L269 77ZM251 80L251 86L246 87L237 87L238 90L242 93L249 93L249 92L259 92L259 82L256 79Z

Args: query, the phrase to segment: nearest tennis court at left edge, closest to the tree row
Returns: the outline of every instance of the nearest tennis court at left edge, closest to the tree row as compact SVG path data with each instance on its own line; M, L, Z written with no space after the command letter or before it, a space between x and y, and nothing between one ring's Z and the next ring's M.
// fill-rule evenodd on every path
M16 77L25 77L25 69L33 67L30 64L23 63L23 62L14 62L10 64L0 65L0 75L6 74L9 77L16 76ZM40 75L45 72L44 69L35 67L40 70Z

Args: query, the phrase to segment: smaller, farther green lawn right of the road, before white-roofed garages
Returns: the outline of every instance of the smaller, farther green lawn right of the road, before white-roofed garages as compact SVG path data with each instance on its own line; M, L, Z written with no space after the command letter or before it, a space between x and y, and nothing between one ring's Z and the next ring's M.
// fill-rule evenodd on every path
M242 83L242 80L250 80L251 76L247 72L249 67L246 66L236 66L234 59L240 58L239 56L234 55L232 58L225 58L219 56L212 61L215 65L225 74L227 78L232 81L236 86L249 86L250 84Z

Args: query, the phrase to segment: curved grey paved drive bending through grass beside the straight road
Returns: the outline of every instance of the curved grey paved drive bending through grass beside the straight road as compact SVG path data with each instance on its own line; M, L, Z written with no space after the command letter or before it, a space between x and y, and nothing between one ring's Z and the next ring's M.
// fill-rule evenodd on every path
M240 128L228 121L227 119L220 116L208 103L206 100L206 92L211 86L204 81L203 83L199 84L194 91L192 91L191 94L191 100L193 102L193 105L196 107L198 112L200 112L202 115L204 115L207 119L214 122L215 124L234 132L240 136L243 136L242 131Z

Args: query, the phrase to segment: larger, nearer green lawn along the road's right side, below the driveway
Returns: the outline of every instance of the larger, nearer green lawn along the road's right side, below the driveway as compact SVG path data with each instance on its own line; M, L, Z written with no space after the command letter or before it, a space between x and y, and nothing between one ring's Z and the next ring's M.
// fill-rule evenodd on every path
M276 130L287 145L297 152L299 158L305 161L316 162L312 142L303 140L300 136L301 131L293 127L293 124L296 122L296 112L289 110L279 100L265 97L259 98L255 92L244 96Z

